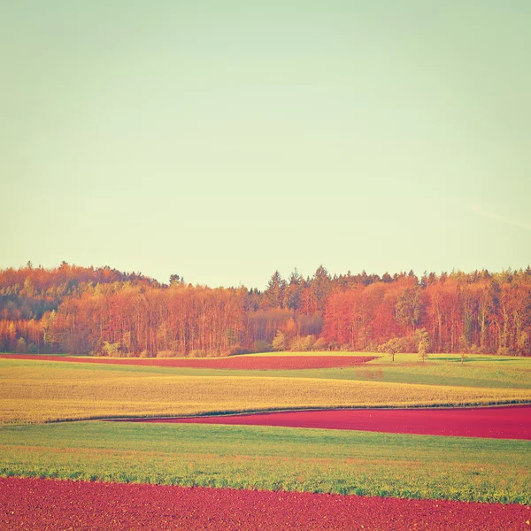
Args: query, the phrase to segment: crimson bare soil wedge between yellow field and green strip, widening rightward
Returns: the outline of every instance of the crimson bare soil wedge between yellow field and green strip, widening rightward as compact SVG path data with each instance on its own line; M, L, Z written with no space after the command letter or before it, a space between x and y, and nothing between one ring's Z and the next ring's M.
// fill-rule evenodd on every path
M251 426L324 427L394 434L531 440L531 406L270 412L185 419L134 419Z

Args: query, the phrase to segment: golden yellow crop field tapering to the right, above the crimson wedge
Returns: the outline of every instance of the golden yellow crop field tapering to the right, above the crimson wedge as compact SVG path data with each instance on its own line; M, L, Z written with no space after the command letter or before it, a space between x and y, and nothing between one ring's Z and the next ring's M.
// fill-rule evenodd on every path
M0 373L0 421L48 422L301 407L531 402L529 389L312 378L183 376L13 363Z

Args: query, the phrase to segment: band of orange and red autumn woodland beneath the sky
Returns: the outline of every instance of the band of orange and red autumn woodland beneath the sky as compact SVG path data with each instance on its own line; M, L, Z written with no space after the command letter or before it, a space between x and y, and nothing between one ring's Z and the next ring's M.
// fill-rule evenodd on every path
M108 266L0 271L0 350L131 357L266 350L531 355L531 268L312 277L264 291L167 284Z

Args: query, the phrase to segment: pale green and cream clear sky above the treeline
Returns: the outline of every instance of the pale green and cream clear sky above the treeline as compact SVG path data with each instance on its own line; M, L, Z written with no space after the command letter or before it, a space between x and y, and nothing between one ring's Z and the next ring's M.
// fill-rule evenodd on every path
M525 268L530 25L528 0L0 3L0 268Z

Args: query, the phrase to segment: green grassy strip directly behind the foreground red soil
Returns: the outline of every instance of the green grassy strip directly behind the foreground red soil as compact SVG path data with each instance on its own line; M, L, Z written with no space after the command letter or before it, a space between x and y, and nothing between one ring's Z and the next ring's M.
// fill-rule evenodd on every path
M81 422L0 429L0 475L531 503L531 443Z

